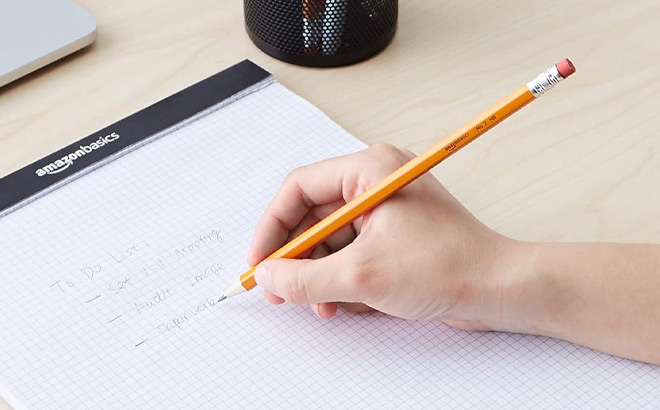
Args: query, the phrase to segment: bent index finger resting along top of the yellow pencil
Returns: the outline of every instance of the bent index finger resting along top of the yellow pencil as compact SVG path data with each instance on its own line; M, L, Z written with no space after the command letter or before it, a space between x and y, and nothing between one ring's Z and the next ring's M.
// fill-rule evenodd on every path
M327 159L291 172L261 216L247 262L254 266L284 245L310 208L344 199L357 177L357 154Z

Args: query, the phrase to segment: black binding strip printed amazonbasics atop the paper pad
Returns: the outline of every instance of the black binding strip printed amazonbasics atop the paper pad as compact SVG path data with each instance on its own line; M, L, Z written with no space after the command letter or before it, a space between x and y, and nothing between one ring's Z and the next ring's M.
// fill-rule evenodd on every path
M269 76L245 60L5 176L0 179L0 213Z

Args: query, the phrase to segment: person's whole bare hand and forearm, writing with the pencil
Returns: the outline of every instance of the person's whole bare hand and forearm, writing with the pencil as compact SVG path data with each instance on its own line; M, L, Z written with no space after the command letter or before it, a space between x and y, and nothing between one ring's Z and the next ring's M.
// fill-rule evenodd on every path
M376 145L293 171L259 221L248 263L412 157ZM431 174L302 256L259 264L255 278L270 302L310 304L323 318L342 302L660 364L660 246L517 242L482 225Z

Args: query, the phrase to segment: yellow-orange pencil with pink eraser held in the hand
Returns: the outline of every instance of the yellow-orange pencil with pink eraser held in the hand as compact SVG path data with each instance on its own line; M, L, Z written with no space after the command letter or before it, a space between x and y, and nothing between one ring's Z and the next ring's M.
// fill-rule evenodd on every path
M365 191L362 195L354 198L352 201L348 202L346 205L337 209L322 221L297 236L291 242L273 252L266 259L296 258L305 251L323 242L330 235L397 193L400 189L428 172L434 166L438 165L445 158L474 141L486 131L532 102L536 97L543 95L555 84L567 78L574 72L575 67L568 59L564 59L555 64L538 75L534 80L520 86L513 93L473 118L467 124L452 132L422 154L410 160L401 168L397 169L385 179ZM242 274L234 284L227 288L219 301L254 288L257 285L254 280L255 268L256 267L252 267L250 270Z

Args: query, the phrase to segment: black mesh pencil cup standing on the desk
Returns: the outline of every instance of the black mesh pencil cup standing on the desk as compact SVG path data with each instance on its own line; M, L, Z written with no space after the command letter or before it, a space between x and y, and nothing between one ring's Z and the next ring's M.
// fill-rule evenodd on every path
M262 51L315 67L355 63L396 32L398 0L244 0L245 27Z

